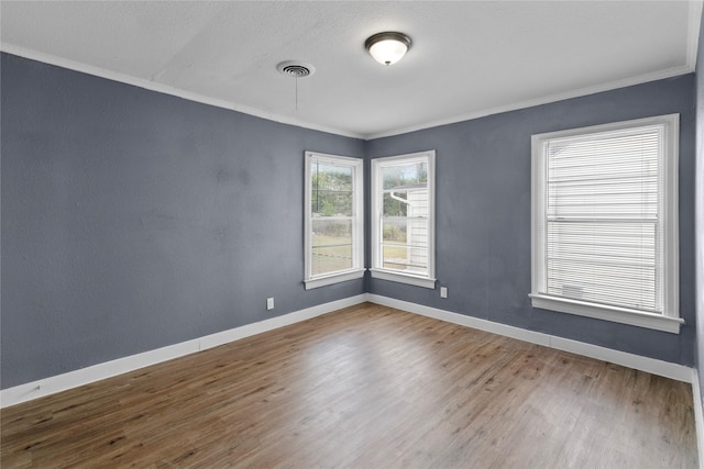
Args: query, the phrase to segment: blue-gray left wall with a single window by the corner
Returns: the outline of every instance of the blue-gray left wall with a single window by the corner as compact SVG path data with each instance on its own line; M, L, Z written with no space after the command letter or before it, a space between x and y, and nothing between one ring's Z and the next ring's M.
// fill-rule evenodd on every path
M304 152L363 142L1 65L3 389L364 292L301 283Z

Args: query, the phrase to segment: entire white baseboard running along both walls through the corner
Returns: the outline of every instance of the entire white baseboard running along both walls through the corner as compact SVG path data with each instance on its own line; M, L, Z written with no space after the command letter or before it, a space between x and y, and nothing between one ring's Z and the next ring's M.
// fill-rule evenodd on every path
M340 310L342 308L353 306L365 301L370 301L372 303L381 304L384 306L396 308L399 310L408 311L410 313L433 317L440 321L446 321L466 327L473 327L481 331L517 338L519 340L529 342L531 344L543 345L546 347L571 351L586 357L609 361L616 365L623 365L637 370L663 376L666 378L676 379L679 381L692 382L694 386L694 382L692 381L692 369L683 365L671 364L668 361L657 360L653 358L641 357L639 355L585 344L578 340L556 337L549 334L527 331L506 324L499 324L477 317L465 316L463 314L439 310L437 308L425 306L417 303L410 303L407 301L396 300L388 297L382 297L373 293L363 293L356 297L350 297L317 306L307 308L305 310L295 311L293 313L272 317L257 323L234 327L229 331L194 338L191 340L183 342L179 344L169 345L154 350L144 351L142 354L119 358L117 360L106 361L87 368L81 368L79 370L40 379L13 388L3 389L0 391L0 409L54 394L61 391L66 391L68 389L77 388L79 386L88 384L106 378L111 378L113 376L144 368L150 365L156 365L162 361L183 357L189 354L195 354L197 351L228 344L240 338L249 337L255 334L261 334L278 327L306 321L321 314ZM698 386L698 381L696 381L696 384ZM695 405L696 402L697 401L695 399ZM698 403L701 407L701 399ZM700 433L697 426L697 435L698 434Z

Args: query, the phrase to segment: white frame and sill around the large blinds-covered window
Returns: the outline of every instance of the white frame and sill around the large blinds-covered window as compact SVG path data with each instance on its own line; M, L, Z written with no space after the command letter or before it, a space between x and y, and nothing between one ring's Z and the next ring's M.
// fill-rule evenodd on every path
M571 136L635 129L641 126L661 125L662 153L659 161L659 177L662 177L663 197L659 223L663 223L663 265L660 275L663 276L662 314L609 306L586 301L569 300L541 292L541 278L546 271L547 230L544 230L547 209L547 144L551 139ZM679 334L680 325L684 321L679 315L679 223L678 223L678 152L679 152L679 114L660 115L632 121L616 122L582 129L550 132L532 135L531 157L531 298L535 308L596 317L623 324L647 327L657 331Z

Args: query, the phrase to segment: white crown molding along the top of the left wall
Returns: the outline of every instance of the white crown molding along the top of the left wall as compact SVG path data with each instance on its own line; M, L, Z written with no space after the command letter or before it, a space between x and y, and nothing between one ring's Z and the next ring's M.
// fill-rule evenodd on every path
M278 122L282 124L295 125L297 127L304 127L304 129L309 129L314 131L331 133L331 134L341 135L345 137L362 138L362 139L366 138L366 135L348 132L340 129L328 127L324 125L318 125L307 121L292 119L289 116L262 111L261 109L251 108L248 105L237 104L222 99L210 98L210 97L198 94L195 92L185 91L178 88L173 88L167 85L158 83L156 81L145 80L143 78L135 78L130 75L120 74L118 71L106 70L100 67L95 67L91 65L81 64L81 63L69 60L66 58L56 57L52 54L45 54L45 53L29 49L25 47L15 46L13 44L8 44L7 42L0 44L0 51L8 54L16 55L20 57L29 58L31 60L37 60L44 64L55 65L57 67L67 68L69 70L92 75L92 76L105 78L112 81L119 81L121 83L132 85L138 88L144 88L144 89L161 92L164 94L170 94L177 98L186 99L188 101L200 102L202 104L215 105L216 108L222 108L230 111L241 112L243 114L266 119L268 121Z

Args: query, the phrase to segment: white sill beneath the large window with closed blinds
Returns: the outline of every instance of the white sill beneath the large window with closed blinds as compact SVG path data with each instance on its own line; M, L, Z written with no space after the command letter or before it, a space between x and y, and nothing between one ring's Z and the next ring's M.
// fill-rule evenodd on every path
M580 316L595 317L597 320L629 324L656 331L679 334L684 320L680 317L663 316L661 314L645 313L642 311L626 308L605 306L583 301L565 300L563 298L548 297L543 294L529 294L534 308L576 314Z

